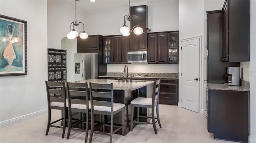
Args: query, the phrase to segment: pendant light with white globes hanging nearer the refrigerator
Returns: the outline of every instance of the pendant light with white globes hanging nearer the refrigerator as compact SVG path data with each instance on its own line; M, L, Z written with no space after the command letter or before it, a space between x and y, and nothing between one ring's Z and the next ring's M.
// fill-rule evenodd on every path
M75 0L75 1L78 1L78 0ZM73 29L71 30L71 26L72 26L72 24L73 24ZM81 38L81 39L86 39L86 38L88 38L88 34L87 33L85 33L85 31L84 31L84 29L83 29L83 31L80 31L79 33L75 30L75 26L78 26L79 24L83 24L82 22L76 22L76 20L74 21L74 22L72 22L71 24L70 24L70 32L67 34L67 38L68 39L75 39L78 35L79 35L79 37ZM83 24L83 26L84 26L84 24Z

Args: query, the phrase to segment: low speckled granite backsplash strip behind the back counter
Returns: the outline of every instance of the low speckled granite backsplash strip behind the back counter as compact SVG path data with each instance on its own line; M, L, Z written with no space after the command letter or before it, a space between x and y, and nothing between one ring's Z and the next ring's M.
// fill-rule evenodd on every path
M140 76L151 76L151 77L179 77L178 73L139 73L139 72L128 72L128 75L136 75ZM126 76L126 72L107 72L107 76Z

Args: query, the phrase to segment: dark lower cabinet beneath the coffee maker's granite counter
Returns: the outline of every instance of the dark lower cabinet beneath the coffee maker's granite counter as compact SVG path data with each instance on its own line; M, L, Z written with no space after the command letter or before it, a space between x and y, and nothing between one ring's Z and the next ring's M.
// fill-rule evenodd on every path
M209 90L207 119L214 139L248 143L249 92Z

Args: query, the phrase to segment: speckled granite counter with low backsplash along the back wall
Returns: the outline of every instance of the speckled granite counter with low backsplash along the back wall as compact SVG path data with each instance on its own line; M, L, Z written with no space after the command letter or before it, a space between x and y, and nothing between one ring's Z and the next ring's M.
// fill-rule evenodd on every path
M140 76L136 76L139 74ZM145 76L147 75L147 76ZM108 72L107 75L99 76L106 78L122 78L126 77L126 73L124 72ZM136 78L168 78L168 79L178 79L178 73L128 73L128 76L132 76L133 79Z

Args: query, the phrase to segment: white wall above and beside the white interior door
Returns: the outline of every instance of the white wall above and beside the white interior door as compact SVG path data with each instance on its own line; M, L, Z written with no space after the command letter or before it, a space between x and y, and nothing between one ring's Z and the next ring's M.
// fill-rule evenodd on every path
M202 36L202 43L204 43L204 1L203 0L179 0L179 39L180 43L182 39L192 38ZM181 45L181 44L180 44ZM202 48L202 47L201 47ZM203 48L202 48L203 49ZM179 47L179 51L181 47ZM180 52L181 53L181 52ZM202 51L200 51L200 54ZM181 61L181 56L179 61ZM200 57L203 59L202 57ZM203 68L203 67L200 67ZM200 69L200 71L202 71ZM179 72L181 72L181 62L179 67ZM185 71L182 71L185 72ZM202 73L200 77L202 79ZM203 86L204 80L200 80L200 87ZM179 74L179 93L181 92L181 76ZM200 88L200 93L203 92L203 88ZM205 90L204 90L205 91ZM179 96L179 100L182 98L182 94ZM204 113L205 110L205 99L203 94L200 94L200 113ZM179 102L179 106L181 103Z

